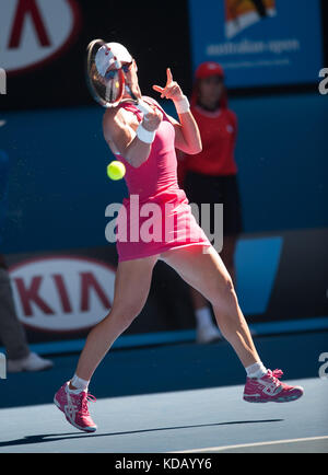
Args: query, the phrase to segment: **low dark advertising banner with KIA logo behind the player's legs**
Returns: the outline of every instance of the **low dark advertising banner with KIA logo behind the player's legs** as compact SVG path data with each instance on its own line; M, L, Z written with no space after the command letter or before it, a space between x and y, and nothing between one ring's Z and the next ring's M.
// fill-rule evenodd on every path
M242 236L236 291L255 333L327 328L327 240L328 229ZM110 311L117 268L113 245L7 259L17 316L31 343L84 338ZM125 336L140 341L151 335L154 344L161 335L163 343L186 332L192 338L195 328L188 285L159 262L148 301Z

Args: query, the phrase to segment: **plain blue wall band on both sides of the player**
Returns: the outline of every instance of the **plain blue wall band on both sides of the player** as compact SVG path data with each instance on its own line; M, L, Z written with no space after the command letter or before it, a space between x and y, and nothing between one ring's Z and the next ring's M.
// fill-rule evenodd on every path
M319 94L231 101L246 232L328 224L327 106ZM105 208L126 187L106 176L102 115L97 106L1 115L11 160L3 252L106 244Z

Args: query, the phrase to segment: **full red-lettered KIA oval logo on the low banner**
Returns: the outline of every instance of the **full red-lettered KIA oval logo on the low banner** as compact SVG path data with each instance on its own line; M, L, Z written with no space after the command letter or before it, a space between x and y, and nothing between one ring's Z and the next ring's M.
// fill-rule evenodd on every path
M115 269L85 257L56 256L10 268L19 318L44 332L77 332L103 320L114 299Z

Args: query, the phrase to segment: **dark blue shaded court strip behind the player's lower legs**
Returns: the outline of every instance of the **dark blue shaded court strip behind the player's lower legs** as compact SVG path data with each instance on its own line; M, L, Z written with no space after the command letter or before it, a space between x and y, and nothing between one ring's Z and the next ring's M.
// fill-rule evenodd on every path
M328 350L328 332L256 337L263 363L283 370L284 380L318 378L319 355ZM51 404L58 387L75 370L79 355L56 356L55 368L8 374L0 380L0 408ZM110 351L90 391L97 398L238 385L245 371L226 341L179 344Z

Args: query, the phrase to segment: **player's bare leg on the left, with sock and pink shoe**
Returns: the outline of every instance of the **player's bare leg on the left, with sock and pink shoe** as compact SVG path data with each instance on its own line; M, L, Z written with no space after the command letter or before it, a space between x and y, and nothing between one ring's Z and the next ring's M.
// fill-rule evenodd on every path
M89 413L87 403L95 401L87 392L90 380L116 338L141 312L156 260L156 257L149 257L118 265L112 311L90 332L72 380L55 394L56 406L80 430L94 432L97 429Z

